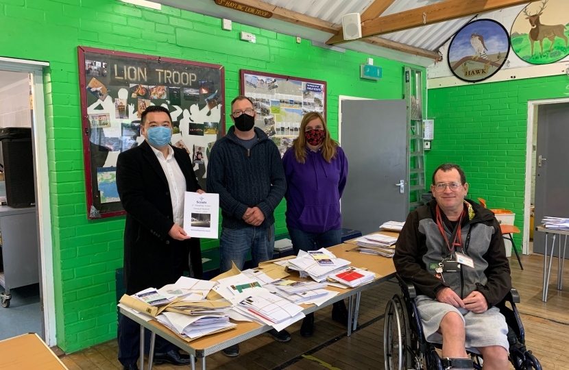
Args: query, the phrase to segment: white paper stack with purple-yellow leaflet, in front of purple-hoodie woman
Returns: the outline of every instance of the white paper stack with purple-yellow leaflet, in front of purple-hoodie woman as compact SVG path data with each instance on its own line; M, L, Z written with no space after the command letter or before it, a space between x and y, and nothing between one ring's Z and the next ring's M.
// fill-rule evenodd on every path
M326 260L331 263L326 261L325 264L320 264L319 260L315 259L317 257L313 257L305 251L299 251L297 258L288 260L289 269L300 271L300 277L312 277L315 282L323 282L328 275L340 271L350 264L350 261L336 258L328 249L321 248L318 251L326 255L328 257Z

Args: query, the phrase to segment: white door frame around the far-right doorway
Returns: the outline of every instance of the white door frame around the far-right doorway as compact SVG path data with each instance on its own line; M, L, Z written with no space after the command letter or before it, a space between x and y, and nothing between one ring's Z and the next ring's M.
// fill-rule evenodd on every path
M569 97L555 99L529 100L527 102L527 136L526 136L526 184L524 190L524 230L522 238L522 254L529 254L529 216L531 214L531 169L533 163L533 119L535 108L546 104L569 103ZM537 123L539 125L539 122ZM534 220L535 223L535 220Z

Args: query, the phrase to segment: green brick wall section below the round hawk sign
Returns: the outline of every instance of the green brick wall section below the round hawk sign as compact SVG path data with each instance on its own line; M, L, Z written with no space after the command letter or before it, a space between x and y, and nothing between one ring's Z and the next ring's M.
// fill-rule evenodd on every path
M459 164L470 199L511 210L523 230L528 101L566 97L568 88L559 75L428 90L428 117L435 119L428 179L439 164ZM521 250L522 234L514 241Z

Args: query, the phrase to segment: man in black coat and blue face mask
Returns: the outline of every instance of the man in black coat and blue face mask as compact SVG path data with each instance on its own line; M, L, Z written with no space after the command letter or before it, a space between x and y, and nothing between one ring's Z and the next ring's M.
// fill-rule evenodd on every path
M189 264L193 276L202 277L199 239L190 238L182 228L184 192L204 193L197 184L191 158L184 149L169 145L172 121L166 108L150 106L143 112L141 134L144 143L124 151L117 160L117 188L127 212L124 285L128 295L176 282ZM140 325L122 317L118 339L123 369L138 369ZM154 360L174 365L191 363L189 356L180 355L175 345L159 336Z

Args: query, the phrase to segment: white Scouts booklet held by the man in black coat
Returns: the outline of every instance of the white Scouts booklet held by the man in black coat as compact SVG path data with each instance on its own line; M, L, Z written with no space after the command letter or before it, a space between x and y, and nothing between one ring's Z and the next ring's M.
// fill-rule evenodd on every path
M184 231L192 238L217 239L219 194L186 191L184 198Z

